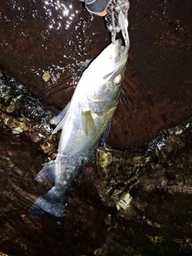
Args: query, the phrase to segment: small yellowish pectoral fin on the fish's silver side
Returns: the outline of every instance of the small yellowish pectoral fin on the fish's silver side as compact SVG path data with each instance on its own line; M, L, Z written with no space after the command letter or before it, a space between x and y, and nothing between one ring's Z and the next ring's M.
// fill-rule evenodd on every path
M86 136L96 133L94 119L92 118L90 111L82 111L82 130Z

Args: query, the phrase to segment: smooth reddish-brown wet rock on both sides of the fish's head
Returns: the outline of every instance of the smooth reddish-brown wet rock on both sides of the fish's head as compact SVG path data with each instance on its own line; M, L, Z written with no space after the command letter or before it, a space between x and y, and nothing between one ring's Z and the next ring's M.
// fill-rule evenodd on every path
M190 118L191 10L190 0L130 0L129 65L110 145L138 148ZM104 20L76 0L9 0L0 11L1 69L46 101L65 106L75 77L110 42Z

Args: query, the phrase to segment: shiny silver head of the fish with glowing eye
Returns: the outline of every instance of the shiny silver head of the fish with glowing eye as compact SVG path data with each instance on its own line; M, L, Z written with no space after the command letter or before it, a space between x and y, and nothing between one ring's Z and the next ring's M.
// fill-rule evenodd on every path
M95 108L99 111L118 104L127 58L128 51L122 46L122 40L117 39L107 46L86 70L90 74L86 98L93 111Z

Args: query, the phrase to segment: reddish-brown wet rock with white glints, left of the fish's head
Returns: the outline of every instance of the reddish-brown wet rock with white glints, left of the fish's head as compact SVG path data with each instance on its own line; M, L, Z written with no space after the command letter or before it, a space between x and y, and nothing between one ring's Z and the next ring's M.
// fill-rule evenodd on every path
M102 18L92 18L76 0L7 1L1 6L0 30L2 70L61 107L73 94L78 71L109 38Z

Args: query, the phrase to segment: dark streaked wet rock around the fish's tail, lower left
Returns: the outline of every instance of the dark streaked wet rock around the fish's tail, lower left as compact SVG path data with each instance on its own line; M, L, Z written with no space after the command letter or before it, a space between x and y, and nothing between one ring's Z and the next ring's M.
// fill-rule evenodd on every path
M25 134L15 138L1 127L0 132L0 248L3 255L91 255L105 241L106 234L106 210L97 190L93 189L93 181L79 177L74 182L65 218L31 217L30 206L38 194L50 188L47 182L41 185L34 182L46 155Z

